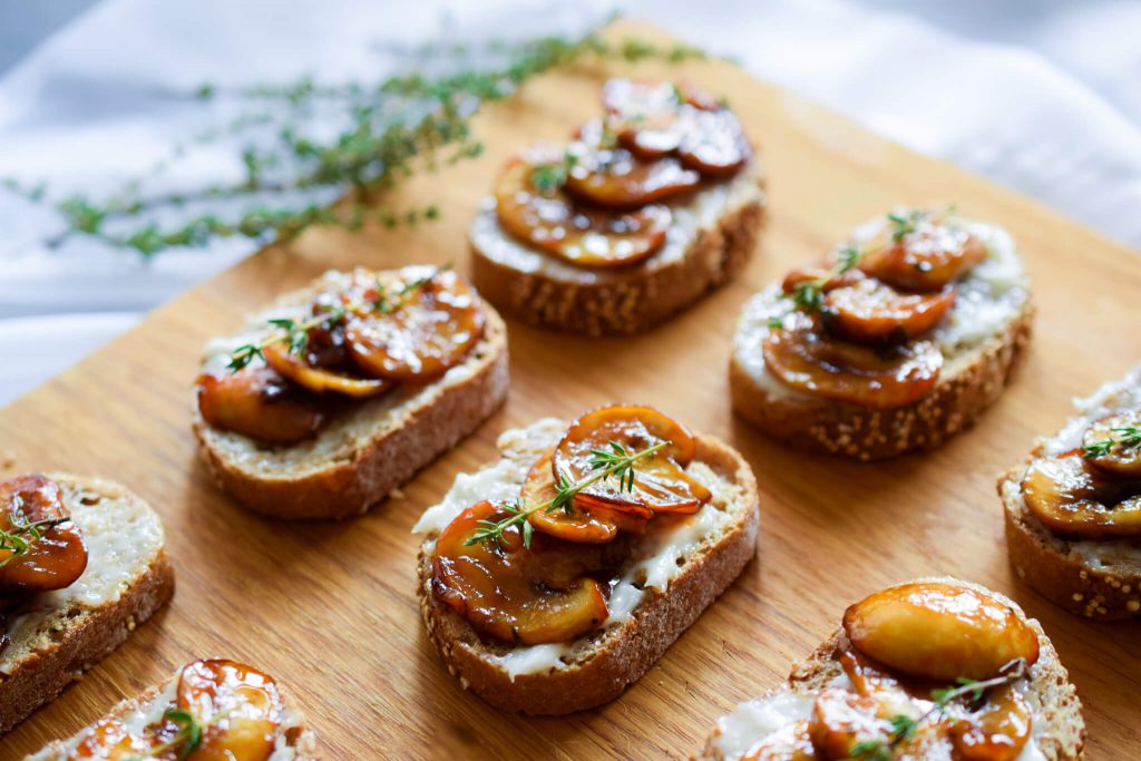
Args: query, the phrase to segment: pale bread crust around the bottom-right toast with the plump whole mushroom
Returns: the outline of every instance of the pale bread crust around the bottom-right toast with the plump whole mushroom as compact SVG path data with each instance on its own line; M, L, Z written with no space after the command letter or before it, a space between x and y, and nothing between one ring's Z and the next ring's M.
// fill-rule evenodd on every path
M979 584L952 577L920 581L939 581L970 586L998 598L1025 617L1022 609L1010 598ZM1030 667L1029 688L1041 701L1041 720L1046 727L1044 732L1035 735L1035 743L1047 761L1077 761L1085 753L1086 739L1085 720L1082 718L1082 701L1078 698L1074 685L1069 681L1069 672L1059 661L1058 651L1050 638L1046 637L1042 625L1035 618L1027 618L1027 623L1038 635L1038 661ZM769 690L761 697L769 697L779 689L791 689L802 695L819 691L842 672L840 656L849 649L851 649L851 643L841 626L811 655L793 665L785 685ZM715 739L717 732L709 737L702 752L693 758L701 761L725 761L725 756L714 745Z

